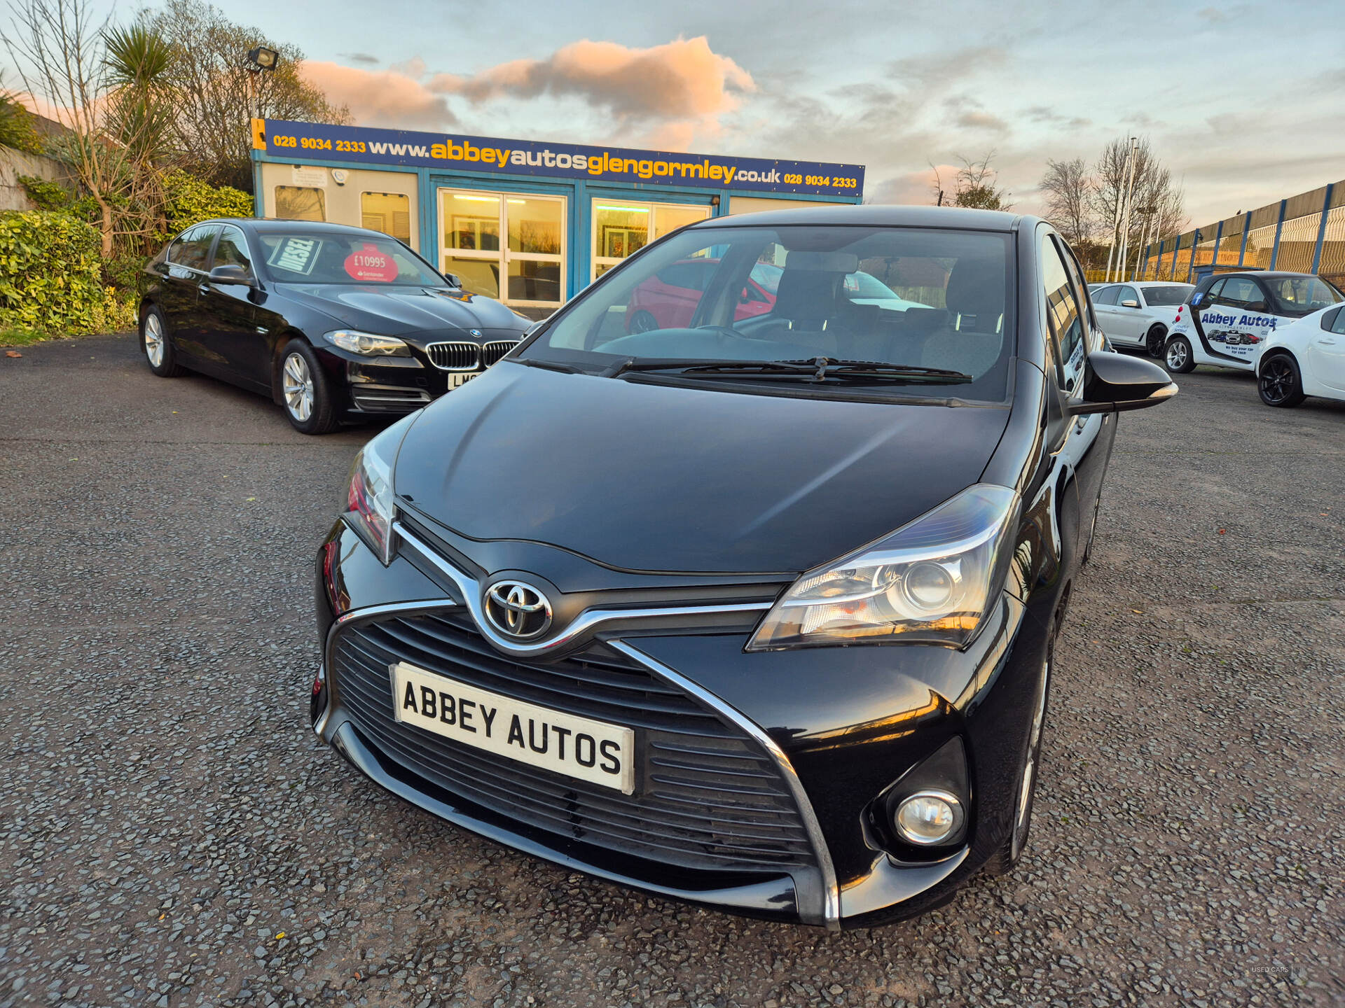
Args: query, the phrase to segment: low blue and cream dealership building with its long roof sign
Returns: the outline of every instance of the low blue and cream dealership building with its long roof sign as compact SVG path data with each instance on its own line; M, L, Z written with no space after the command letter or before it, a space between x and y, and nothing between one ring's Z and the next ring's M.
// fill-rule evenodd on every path
M545 317L668 231L859 203L863 165L253 120L258 216L385 231Z

